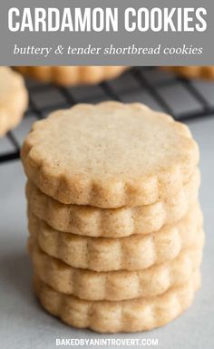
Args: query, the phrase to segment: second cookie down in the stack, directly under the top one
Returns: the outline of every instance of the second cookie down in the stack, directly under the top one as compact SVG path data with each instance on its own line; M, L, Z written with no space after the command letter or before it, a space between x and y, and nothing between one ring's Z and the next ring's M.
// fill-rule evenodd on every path
M26 197L30 211L56 230L96 238L122 238L149 234L179 221L196 202L198 190L197 169L177 194L147 206L111 209L64 205L30 181L26 185Z

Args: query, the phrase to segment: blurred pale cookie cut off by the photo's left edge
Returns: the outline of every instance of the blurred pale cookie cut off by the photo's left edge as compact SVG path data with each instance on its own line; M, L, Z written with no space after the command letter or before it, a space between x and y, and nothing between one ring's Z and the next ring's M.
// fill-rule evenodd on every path
M23 77L8 67L0 67L0 137L21 121L27 103Z

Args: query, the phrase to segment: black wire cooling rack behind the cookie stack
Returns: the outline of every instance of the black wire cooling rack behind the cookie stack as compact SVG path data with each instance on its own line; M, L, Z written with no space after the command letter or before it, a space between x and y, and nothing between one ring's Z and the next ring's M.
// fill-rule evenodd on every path
M214 116L214 83L190 81L159 68L134 67L111 82L65 88L26 81L30 102L24 120L0 139L0 163L19 159L20 148L32 123L49 112L78 102L144 102L176 120Z

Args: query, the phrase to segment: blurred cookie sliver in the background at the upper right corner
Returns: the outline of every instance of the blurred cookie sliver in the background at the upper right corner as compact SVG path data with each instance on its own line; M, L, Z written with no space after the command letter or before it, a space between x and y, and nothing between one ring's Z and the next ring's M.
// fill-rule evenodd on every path
M170 71L172 73L179 73L182 76L185 76L187 78L194 78L194 79L208 79L213 80L214 79L214 65L209 66L199 66L199 65L193 65L193 66L167 66L162 67L163 69Z

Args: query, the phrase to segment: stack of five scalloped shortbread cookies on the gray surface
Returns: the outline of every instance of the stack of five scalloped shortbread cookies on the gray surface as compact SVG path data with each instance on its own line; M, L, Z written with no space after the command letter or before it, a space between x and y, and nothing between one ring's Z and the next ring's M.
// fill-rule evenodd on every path
M79 104L34 123L22 149L34 289L98 332L169 323L199 288L199 150L140 103Z

